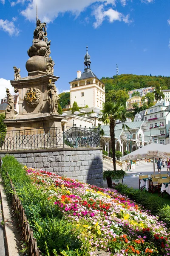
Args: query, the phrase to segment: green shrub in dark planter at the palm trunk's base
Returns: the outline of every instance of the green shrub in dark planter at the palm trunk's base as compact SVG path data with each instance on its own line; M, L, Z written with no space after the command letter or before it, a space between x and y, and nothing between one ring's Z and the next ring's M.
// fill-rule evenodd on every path
M123 177L125 174L126 172L123 170L106 170L103 172L103 180L107 180L108 187L113 188L119 183L123 183Z

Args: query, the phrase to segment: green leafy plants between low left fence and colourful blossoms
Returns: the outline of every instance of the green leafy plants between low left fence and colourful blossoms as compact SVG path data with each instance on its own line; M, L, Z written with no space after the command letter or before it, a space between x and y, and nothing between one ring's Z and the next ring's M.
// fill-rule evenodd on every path
M6 175L7 172L9 177ZM48 201L49 194L43 190L42 186L37 189L32 184L23 166L13 156L6 155L3 157L0 173L10 199L13 193L10 186L10 179L12 180L42 255L60 255L61 251L67 249L67 245L73 251L72 254L68 255L88 255L80 249L84 241L80 241L78 238L79 231L76 226L63 218L57 205ZM77 254L74 254L75 251Z

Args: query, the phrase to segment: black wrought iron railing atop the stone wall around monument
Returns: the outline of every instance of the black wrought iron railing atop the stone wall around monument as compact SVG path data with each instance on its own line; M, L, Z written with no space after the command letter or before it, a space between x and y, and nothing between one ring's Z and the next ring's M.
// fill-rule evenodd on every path
M0 132L1 150L99 147L98 128L52 127Z

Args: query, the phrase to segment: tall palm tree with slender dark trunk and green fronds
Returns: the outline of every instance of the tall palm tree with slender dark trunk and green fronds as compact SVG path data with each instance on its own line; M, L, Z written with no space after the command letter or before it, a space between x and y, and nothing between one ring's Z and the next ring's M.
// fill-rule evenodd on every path
M110 136L113 151L113 169L116 171L115 126L117 119L121 120L122 122L126 121L125 107L119 103L105 102L103 103L103 110L101 110L101 113L102 116L99 118L99 121L102 121L104 125L110 125ZM127 125L123 124L122 128L125 128L125 126L127 127Z

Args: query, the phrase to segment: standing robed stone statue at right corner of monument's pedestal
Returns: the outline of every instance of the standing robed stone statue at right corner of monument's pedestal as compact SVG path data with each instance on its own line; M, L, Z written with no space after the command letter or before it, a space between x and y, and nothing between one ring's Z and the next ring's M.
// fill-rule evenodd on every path
M50 105L50 114L59 114L57 112L59 96L57 94L57 88L55 84L52 84L51 81L52 80L50 79L48 84L48 103Z

